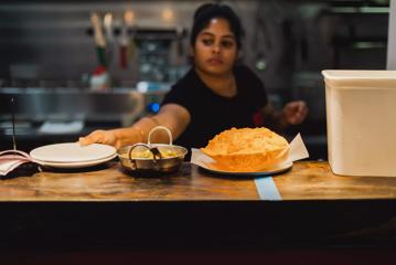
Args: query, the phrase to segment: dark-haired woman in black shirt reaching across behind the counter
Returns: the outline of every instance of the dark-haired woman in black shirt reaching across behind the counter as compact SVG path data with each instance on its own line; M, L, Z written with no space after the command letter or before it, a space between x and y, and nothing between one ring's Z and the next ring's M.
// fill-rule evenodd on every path
M206 3L194 14L190 53L193 67L165 95L160 112L128 128L96 130L79 138L82 145L100 142L119 148L146 142L150 129L168 127L176 144L204 147L216 134L232 127L269 126L281 129L303 121L303 102L287 104L280 113L268 100L261 81L246 66L236 65L243 29L224 4ZM156 141L167 142L165 134Z

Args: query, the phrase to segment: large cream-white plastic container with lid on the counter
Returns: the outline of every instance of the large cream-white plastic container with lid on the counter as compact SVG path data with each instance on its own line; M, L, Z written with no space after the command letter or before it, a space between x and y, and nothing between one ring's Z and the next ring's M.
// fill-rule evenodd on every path
M335 174L396 177L396 71L323 71Z

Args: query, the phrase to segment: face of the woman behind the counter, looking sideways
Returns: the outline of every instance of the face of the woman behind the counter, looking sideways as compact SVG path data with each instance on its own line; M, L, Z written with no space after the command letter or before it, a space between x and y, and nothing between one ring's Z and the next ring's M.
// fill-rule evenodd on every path
M228 74L237 57L234 33L226 19L212 19L196 36L191 49L195 67L211 75Z

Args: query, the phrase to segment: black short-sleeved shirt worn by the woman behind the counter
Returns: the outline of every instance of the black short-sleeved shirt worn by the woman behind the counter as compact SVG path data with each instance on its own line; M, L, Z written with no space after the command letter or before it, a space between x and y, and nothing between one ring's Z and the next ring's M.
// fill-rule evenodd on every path
M234 67L237 94L223 97L208 88L194 68L165 95L162 105L174 103L185 107L191 121L175 140L185 148L201 148L215 135L232 127L254 127L254 117L267 104L263 82L246 66Z

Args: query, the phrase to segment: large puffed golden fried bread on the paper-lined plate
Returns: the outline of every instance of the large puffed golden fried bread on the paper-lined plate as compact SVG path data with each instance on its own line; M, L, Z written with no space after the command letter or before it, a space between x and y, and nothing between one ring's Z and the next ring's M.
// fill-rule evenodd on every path
M216 135L201 150L216 162L211 165L234 172L261 171L288 157L287 140L267 128L232 128Z

